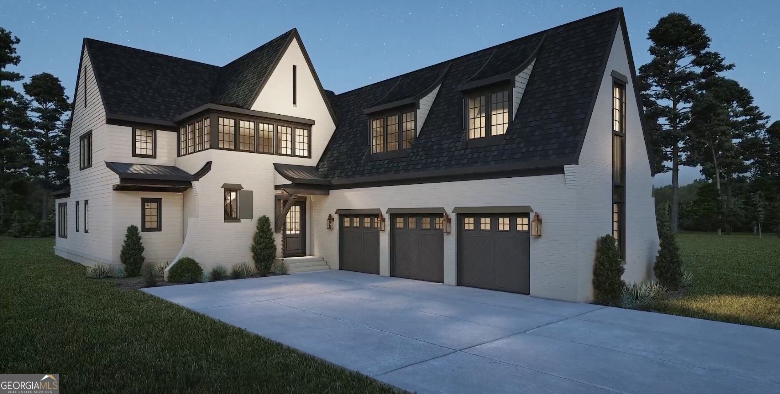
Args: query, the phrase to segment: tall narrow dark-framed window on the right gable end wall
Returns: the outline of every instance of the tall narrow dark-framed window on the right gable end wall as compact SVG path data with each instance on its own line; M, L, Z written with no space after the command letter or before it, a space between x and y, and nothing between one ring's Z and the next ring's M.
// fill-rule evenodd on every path
M626 259L626 85L612 86L612 237Z

